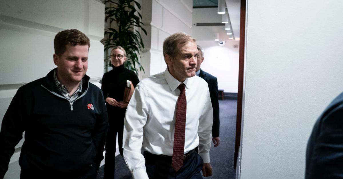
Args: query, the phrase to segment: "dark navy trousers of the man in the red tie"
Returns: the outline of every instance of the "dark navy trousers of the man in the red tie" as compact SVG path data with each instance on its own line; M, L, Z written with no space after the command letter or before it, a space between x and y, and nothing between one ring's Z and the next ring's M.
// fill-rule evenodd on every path
M176 172L171 167L171 156L143 153L146 172L149 179L202 179L200 170L203 160L197 152L193 152L184 165Z

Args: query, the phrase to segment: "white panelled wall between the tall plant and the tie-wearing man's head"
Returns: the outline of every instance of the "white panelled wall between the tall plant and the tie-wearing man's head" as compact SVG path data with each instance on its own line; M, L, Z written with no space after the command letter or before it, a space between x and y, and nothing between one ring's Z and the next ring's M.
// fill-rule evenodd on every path
M142 16L148 35L143 35L145 45L141 64L145 69L142 77L165 70L163 41L177 31L192 35L192 0L144 0Z

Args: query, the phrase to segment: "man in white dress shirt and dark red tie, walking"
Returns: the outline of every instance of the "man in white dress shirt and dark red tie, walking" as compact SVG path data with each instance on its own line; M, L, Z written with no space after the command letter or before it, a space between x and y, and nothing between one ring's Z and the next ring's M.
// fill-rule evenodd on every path
M196 40L188 34L178 32L167 37L163 42L167 69L135 88L123 133L123 155L134 179L200 179L200 170L205 177L212 175L209 152L213 113L208 85L195 76L197 53ZM179 112L179 103L184 104L184 114ZM182 144L174 141L182 134L180 116L185 118ZM180 148L175 148L180 145L184 147L177 160ZM180 160L181 165L175 167Z

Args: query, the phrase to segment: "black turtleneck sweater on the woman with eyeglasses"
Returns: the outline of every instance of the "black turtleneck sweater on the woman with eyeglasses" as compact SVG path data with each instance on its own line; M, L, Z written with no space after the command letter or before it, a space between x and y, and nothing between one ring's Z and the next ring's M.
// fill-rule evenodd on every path
M118 67L112 65L112 67L113 69L103 76L101 90L103 90L105 100L107 97L110 97L117 101L123 101L126 80L132 81L133 87L136 87L139 79L133 71L124 68L124 65ZM107 106L119 108L109 104Z

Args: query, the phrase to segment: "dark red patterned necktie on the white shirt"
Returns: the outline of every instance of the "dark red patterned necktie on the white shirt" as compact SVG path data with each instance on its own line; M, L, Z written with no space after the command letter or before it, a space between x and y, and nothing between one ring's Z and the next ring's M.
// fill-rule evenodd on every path
M177 88L179 88L181 92L176 103L177 107L176 107L173 159L171 161L171 166L174 168L175 171L178 171L184 164L186 107L187 107L185 84L181 83Z

